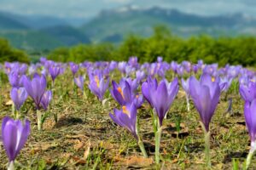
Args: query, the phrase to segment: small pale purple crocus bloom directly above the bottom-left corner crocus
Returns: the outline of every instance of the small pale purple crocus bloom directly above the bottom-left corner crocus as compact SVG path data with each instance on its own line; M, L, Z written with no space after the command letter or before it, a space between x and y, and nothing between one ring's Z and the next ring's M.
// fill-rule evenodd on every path
M11 99L15 104L17 111L20 111L21 105L24 104L27 98L27 93L25 88L12 88L10 92Z

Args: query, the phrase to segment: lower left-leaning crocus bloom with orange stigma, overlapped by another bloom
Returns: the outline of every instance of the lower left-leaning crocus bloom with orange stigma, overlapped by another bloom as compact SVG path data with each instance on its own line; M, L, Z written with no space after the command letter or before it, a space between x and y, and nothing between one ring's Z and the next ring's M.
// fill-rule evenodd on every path
M113 109L113 114L109 113L109 116L113 122L128 129L131 134L138 139L136 130L137 108L135 105L123 105L122 110Z

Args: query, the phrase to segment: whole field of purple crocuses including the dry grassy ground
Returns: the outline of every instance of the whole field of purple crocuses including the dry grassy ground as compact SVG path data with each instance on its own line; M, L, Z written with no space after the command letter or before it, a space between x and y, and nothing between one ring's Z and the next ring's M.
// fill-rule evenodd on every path
M1 169L255 169L256 73L183 61L0 65Z

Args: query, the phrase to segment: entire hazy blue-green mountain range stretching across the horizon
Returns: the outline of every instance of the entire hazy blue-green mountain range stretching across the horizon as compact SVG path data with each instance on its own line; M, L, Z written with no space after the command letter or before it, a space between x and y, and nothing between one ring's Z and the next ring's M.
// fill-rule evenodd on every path
M169 27L172 34L180 37L256 35L256 19L245 14L201 16L177 9L133 6L103 10L91 19L0 12L0 37L26 50L90 42L119 43L129 34L148 37L159 25Z

